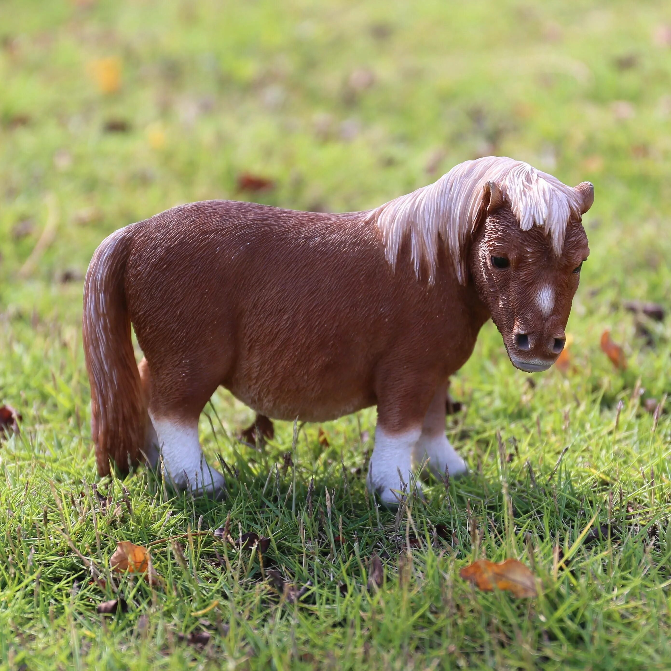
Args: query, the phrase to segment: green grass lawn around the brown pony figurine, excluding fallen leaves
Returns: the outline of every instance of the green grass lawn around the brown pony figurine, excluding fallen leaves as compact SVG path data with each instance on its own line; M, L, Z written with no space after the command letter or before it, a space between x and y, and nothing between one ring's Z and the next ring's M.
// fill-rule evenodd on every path
M671 392L671 327L647 346L623 309L671 308L665 25L652 2L1 3L0 404L23 413L0 447L2 668L668 668L671 421L654 430L643 404ZM109 94L91 76L106 57ZM591 180L596 200L574 368L515 371L488 324L454 379L467 409L447 430L470 475L376 509L360 474L374 410L323 425L328 448L316 425L293 446L277 423L258 452L234 440L251 411L220 391L201 438L231 469L225 501L174 497L142 469L95 476L81 277L110 231L197 199L372 207L487 153ZM276 188L238 193L242 172ZM606 327L626 372L599 349ZM271 539L262 562L202 533L227 517ZM169 539L190 531L182 560ZM121 539L162 541L164 584L115 576L128 611L102 617ZM458 572L482 557L531 567L537 599L472 590ZM299 603L270 569L310 583ZM180 640L193 631L207 645Z

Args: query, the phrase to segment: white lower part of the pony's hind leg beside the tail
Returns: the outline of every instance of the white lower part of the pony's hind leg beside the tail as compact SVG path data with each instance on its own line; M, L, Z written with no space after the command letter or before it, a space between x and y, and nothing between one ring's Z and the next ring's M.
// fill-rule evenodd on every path
M172 485L198 494L219 493L224 484L223 475L205 460L198 440L198 422L159 419L151 413L150 417L156 429L166 478Z

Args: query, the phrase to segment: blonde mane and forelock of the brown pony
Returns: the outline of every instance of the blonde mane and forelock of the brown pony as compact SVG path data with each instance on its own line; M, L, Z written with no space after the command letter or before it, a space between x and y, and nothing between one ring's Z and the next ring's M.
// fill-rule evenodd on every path
M580 216L582 199L578 191L523 161L486 156L460 163L437 182L380 205L370 213L370 220L382 231L389 263L395 266L401 244L409 236L417 276L425 263L429 282L433 283L438 246L442 242L459 281L465 284L463 250L482 207L488 182L499 187L523 231L534 224L546 227L554 252L561 253L568 220Z

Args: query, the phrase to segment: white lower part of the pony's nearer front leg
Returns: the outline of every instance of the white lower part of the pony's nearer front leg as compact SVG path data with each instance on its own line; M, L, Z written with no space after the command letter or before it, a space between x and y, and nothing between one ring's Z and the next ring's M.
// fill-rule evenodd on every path
M375 447L368 464L366 484L370 491L380 495L382 503L398 504L402 496L398 492L403 491L404 483L407 493L412 474L413 447L420 433L419 427L403 433L386 433L380 426L376 427Z

